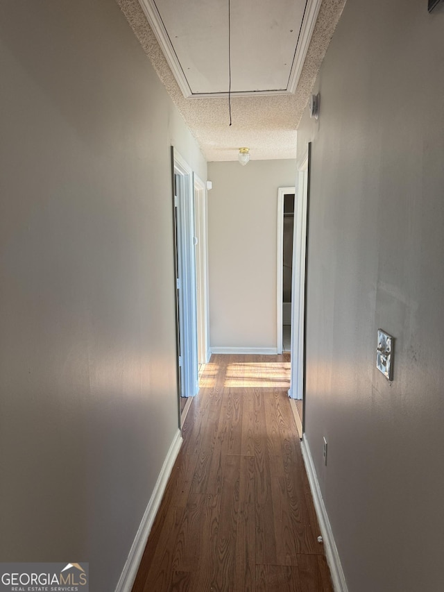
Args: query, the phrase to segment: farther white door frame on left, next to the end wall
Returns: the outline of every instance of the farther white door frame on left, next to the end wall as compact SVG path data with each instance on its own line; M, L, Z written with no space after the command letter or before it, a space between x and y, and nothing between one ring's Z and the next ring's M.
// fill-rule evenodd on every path
M210 362L210 339L208 337L208 240L207 240L207 189L194 174L194 214L196 225L196 289L198 364Z

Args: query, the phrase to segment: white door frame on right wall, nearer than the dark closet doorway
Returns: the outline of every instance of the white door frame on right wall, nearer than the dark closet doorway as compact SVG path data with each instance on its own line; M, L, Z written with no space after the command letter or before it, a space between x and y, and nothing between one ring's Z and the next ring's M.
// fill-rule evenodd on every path
M291 287L291 381L289 396L302 399L304 390L305 255L307 246L308 152L298 163Z

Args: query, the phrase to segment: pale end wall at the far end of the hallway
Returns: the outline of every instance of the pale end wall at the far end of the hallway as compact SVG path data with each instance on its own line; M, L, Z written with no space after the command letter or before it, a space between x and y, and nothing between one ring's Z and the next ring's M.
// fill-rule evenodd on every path
M208 163L210 346L276 349L278 188L296 160Z

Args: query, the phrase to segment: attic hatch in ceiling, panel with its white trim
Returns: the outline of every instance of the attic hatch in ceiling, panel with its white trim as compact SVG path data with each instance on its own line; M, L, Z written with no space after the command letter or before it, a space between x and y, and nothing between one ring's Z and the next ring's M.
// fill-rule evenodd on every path
M296 90L321 0L139 0L185 97ZM186 10L184 10L186 6Z

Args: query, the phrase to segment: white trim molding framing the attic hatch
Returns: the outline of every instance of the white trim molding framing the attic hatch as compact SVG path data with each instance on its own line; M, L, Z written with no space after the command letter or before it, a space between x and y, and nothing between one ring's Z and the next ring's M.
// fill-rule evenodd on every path
M174 51L173 44L167 33L167 29L164 26L162 17L160 16L159 10L155 0L139 0L140 6L145 13L148 23L153 29L153 33L157 42L159 43L162 52L168 62L171 71L173 72L174 78L178 83L178 86L185 96L185 99L196 97L198 99L209 99L211 97L224 97L228 96L228 92L210 92L210 93L193 93L188 84L187 77L185 76L176 51ZM278 90L257 90L257 91L243 91L243 92L232 92L231 96L263 96L263 95L282 95L282 94L294 94L298 87L300 74L302 67L304 66L305 57L309 48L311 35L314 31L316 19L318 18L318 12L321 8L322 0L307 0L305 7L304 17L300 26L300 35L298 39L298 46L296 47L295 55L293 57L293 65L291 66L289 82L286 89Z

